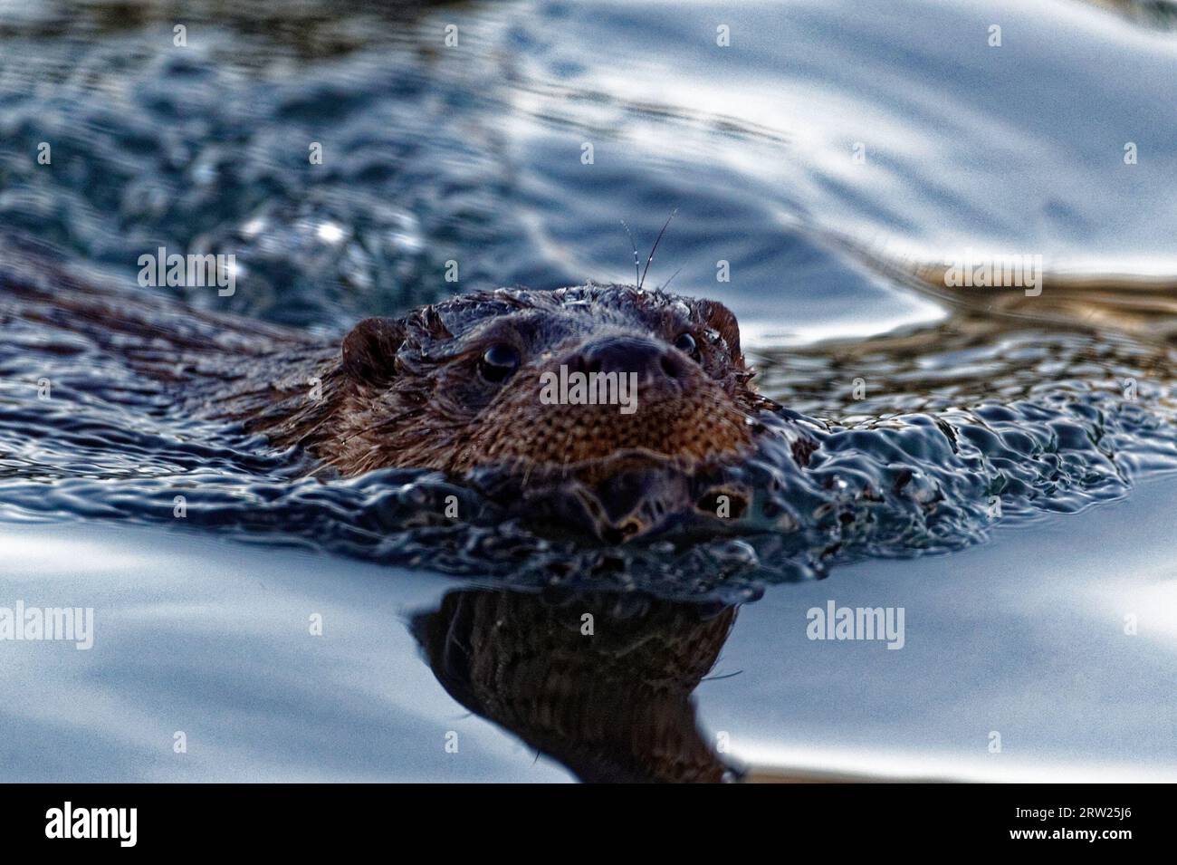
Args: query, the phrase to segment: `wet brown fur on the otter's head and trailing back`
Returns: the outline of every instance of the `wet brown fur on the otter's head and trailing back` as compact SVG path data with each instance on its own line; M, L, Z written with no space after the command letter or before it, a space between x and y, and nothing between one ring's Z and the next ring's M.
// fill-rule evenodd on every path
M194 310L155 292L79 278L46 259L9 261L0 319L36 327L46 351L119 358L161 391L162 413L242 422L278 446L305 447L325 467L461 474L500 465L524 474L636 463L691 466L742 452L750 420L772 404L750 386L736 317L711 300L621 285L503 288L454 297L401 318L366 319L343 340ZM637 411L543 405L540 374L610 337L674 354L689 332L698 355L680 377L645 380ZM479 373L494 342L520 366L504 382ZM154 382L154 384L152 384ZM604 463L609 461L607 466Z

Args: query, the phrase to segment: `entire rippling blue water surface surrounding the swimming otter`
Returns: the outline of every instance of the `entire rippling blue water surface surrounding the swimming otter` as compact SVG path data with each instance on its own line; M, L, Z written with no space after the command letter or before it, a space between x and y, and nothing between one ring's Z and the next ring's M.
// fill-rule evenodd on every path
M1172 778L1177 38L1143 8L0 4L0 606L99 623L88 653L0 644L0 776L563 779L661 753L577 750L611 741L570 696L599 693L700 765L724 734L720 761L796 772ZM649 285L727 304L763 390L830 425L813 474L753 475L810 533L619 559L493 510L437 525L467 495L447 479L324 484L5 317L31 279L135 291L164 246L237 255L237 292L144 297L330 338L454 291L631 280L620 220L645 251L674 208ZM1152 281L918 277L969 247ZM906 504L864 504L883 480ZM629 600L541 591L553 561ZM903 606L905 648L807 640L829 599ZM484 613L560 647L588 604L624 639L568 654L576 687L486 672L545 646Z

